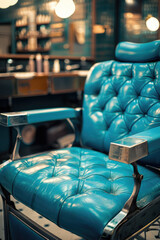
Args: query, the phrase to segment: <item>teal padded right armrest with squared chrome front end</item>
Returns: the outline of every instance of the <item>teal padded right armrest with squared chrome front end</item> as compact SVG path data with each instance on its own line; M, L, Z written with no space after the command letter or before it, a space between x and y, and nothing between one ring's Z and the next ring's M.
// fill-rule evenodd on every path
M111 143L109 158L132 163L160 151L160 126Z

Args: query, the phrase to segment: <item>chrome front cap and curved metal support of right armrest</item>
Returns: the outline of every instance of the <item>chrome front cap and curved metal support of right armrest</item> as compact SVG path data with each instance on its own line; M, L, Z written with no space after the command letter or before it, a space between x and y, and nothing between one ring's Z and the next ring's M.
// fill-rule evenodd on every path
M109 158L133 166L134 188L123 209L105 226L103 230L103 239L111 236L114 230L126 221L130 214L139 210L136 201L143 175L138 172L136 161L147 155L148 143L146 140L128 137L111 143Z

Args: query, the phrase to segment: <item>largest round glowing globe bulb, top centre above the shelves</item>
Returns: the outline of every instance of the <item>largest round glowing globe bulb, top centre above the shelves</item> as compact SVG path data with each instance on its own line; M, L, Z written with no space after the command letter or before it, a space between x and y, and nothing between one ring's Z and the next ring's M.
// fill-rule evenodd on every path
M55 13L60 18L68 18L75 12L73 0L60 0L55 7Z

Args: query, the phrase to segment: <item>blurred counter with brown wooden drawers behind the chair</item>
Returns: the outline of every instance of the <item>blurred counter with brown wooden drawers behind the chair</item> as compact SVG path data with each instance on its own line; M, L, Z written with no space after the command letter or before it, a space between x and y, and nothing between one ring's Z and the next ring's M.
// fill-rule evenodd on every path
M0 73L0 98L82 91L88 71Z

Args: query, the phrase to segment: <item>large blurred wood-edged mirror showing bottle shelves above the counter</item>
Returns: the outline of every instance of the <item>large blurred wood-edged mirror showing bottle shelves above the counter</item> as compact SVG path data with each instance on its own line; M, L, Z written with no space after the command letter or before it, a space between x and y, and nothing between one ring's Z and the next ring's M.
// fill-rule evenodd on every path
M75 12L68 18L57 16L58 0L24 0L0 9L0 24L11 22L10 53L92 57L95 0L72 3Z

